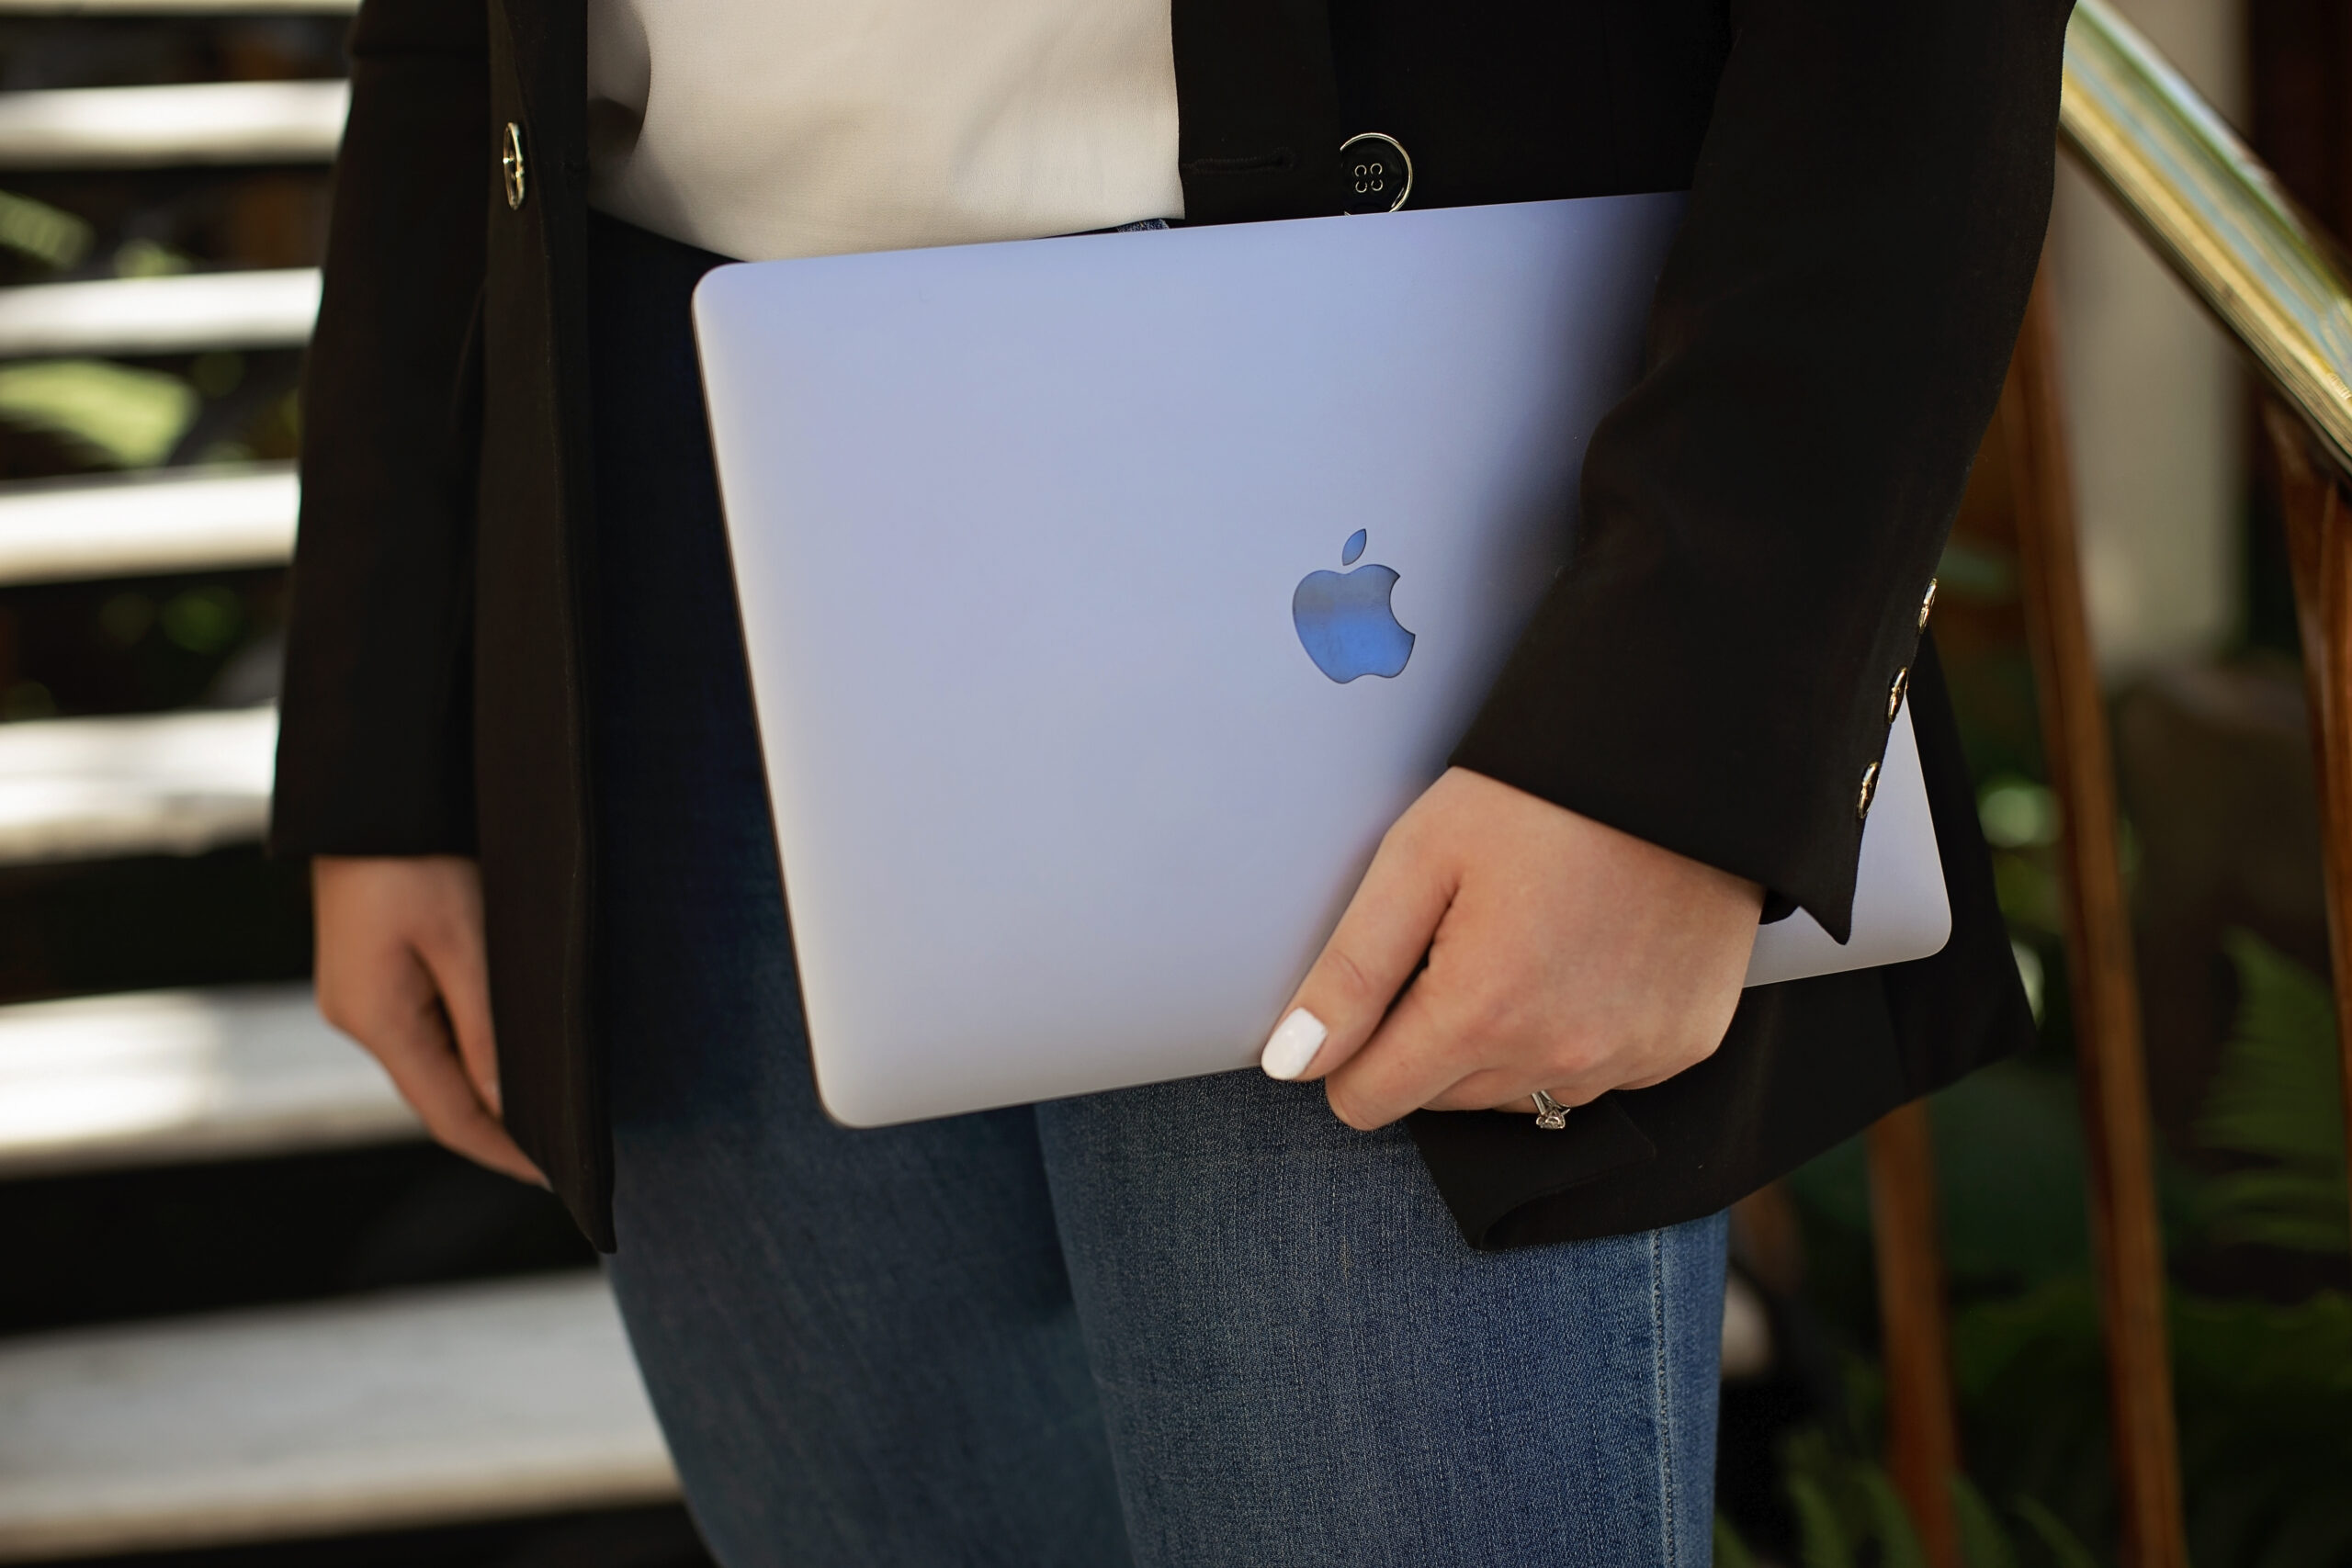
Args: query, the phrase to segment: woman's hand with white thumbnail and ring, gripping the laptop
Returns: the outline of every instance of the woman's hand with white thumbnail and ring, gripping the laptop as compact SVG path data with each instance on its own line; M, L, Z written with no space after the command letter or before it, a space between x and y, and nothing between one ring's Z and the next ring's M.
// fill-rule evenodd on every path
M1755 882L1451 769L1381 839L1265 1072L1322 1077L1359 1128L1649 1088L1722 1044L1762 905Z

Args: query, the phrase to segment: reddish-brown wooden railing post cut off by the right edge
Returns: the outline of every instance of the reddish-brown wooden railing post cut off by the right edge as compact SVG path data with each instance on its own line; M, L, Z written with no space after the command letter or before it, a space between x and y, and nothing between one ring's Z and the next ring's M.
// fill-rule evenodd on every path
M2352 501L2345 484L2312 454L2312 437L2277 402L2263 423L2279 458L2279 508L2296 574L2296 625L2303 635L2303 691L2312 705L2312 757L2319 764L2319 870L2328 893L2328 969L2336 980L2338 1081L2345 1138L2352 1143ZM2347 1190L2352 1201L2352 1190Z

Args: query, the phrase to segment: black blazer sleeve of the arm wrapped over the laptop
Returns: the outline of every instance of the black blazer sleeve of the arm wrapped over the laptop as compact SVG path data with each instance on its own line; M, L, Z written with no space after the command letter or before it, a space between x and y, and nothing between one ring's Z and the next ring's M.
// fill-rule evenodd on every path
M1849 936L2049 223L2070 0L1738 0L1642 381L1454 755Z

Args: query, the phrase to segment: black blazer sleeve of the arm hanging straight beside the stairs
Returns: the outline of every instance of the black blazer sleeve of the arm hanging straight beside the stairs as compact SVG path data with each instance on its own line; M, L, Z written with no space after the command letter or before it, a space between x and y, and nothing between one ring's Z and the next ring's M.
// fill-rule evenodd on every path
M470 853L482 0L365 0L303 367L278 853Z

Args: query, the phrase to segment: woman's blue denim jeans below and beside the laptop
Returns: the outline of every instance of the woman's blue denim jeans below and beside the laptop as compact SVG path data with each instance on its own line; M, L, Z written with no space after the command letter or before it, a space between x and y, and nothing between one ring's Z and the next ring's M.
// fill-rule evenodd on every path
M687 294L593 221L612 1279L769 1563L1705 1563L1722 1218L1475 1253L1399 1128L1254 1072L816 1105Z

